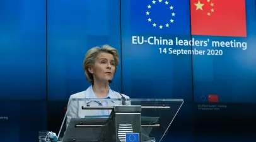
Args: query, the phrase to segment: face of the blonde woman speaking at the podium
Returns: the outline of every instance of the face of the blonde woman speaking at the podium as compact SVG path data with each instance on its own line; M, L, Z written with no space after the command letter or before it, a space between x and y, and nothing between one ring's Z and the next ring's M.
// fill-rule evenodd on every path
M98 53L93 66L88 67L93 78L100 81L112 80L115 74L115 62L110 53Z

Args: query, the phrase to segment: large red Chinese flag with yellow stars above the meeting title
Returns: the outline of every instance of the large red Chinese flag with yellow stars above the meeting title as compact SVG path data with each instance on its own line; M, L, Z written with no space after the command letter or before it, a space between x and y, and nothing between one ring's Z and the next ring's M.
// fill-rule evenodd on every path
M192 35L246 37L245 0L190 0Z

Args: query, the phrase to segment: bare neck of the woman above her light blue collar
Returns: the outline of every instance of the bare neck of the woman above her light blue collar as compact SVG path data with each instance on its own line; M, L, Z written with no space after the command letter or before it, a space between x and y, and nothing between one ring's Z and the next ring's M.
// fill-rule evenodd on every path
M98 82L94 80L93 82L93 92L98 98L105 98L108 95L109 85L108 82Z

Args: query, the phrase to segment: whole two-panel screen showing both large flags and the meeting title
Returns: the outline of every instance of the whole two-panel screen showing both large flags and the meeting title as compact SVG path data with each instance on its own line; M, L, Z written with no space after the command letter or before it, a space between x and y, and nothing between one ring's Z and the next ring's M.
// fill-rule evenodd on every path
M256 102L255 1L201 2L122 1L124 94Z

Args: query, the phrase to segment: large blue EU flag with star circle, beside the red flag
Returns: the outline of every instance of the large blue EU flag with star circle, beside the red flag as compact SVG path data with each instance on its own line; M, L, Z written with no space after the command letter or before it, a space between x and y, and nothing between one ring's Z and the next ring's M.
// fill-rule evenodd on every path
M131 0L134 33L190 35L189 0Z

